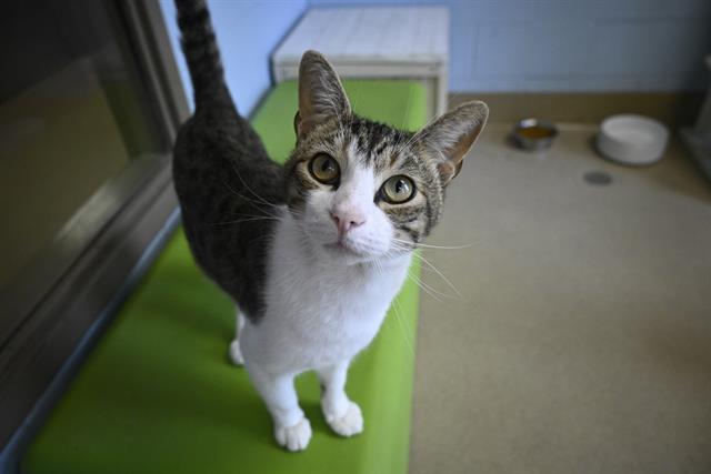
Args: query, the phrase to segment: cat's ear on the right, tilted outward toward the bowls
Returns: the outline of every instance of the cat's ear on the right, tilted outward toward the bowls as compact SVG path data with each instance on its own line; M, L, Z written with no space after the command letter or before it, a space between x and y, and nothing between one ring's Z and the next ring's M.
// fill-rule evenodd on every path
M475 100L447 112L418 132L415 140L439 157L437 168L443 185L459 174L464 157L483 130L487 118L489 107Z

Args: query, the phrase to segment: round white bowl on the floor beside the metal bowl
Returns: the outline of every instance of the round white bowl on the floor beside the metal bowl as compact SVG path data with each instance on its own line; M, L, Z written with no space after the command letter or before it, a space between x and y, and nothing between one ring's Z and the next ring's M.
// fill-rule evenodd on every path
M661 160L669 131L657 120L642 115L612 115L598 133L598 150L624 164L651 164Z

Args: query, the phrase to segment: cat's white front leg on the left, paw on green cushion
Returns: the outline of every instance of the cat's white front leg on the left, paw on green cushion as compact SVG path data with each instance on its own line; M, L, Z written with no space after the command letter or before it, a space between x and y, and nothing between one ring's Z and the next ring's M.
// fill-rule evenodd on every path
M297 391L293 387L297 374L268 374L249 361L246 367L271 413L277 443L289 451L306 450L311 440L311 424L299 406Z

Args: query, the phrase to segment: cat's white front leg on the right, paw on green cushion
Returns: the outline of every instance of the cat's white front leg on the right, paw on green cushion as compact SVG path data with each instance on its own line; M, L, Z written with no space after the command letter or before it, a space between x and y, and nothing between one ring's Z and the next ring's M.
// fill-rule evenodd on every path
M350 361L319 369L321 381L321 410L327 423L341 436L352 436L363 431L363 415L360 406L346 395L346 377Z

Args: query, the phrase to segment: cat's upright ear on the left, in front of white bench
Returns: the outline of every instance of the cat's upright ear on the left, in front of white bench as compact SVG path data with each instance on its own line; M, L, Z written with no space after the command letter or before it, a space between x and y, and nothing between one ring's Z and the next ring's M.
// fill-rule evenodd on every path
M304 52L299 65L297 135L303 137L317 124L350 113L351 105L333 67L321 53Z

